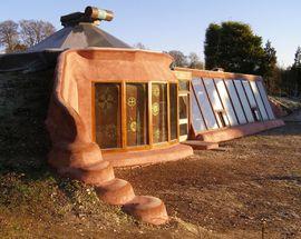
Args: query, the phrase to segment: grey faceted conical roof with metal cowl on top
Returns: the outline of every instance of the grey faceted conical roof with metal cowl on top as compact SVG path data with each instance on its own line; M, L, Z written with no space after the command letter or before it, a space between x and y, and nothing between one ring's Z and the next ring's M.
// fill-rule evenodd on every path
M127 43L99 29L101 20L111 21L114 13L87 7L85 13L74 12L60 18L64 29L28 49L27 52L45 50L98 48L130 48Z

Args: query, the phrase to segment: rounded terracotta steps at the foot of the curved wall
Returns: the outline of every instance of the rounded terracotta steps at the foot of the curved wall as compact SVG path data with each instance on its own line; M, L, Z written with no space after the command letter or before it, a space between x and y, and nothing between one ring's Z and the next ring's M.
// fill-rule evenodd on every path
M136 196L132 185L115 178L109 161L101 160L87 168L57 168L62 177L93 185L99 199L109 205L123 206L123 210L151 225L164 225L168 215L164 202L151 196Z

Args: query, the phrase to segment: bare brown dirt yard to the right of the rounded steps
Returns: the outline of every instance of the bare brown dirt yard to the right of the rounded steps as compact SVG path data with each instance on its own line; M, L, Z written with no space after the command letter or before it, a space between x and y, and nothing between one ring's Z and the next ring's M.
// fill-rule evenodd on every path
M172 217L225 238L261 238L262 230L265 238L301 238L300 122L117 176L163 199Z

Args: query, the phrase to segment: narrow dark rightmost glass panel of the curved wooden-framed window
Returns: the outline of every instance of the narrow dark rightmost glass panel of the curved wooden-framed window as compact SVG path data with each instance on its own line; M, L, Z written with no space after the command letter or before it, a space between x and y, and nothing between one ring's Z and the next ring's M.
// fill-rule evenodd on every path
M169 84L171 140L177 139L177 84Z

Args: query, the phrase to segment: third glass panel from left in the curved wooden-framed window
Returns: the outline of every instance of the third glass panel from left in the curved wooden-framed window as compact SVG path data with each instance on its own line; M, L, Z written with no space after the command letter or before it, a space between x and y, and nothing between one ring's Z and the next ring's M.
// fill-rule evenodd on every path
M152 114L154 143L168 140L167 137L167 84L152 84Z

